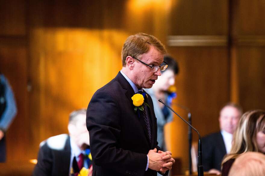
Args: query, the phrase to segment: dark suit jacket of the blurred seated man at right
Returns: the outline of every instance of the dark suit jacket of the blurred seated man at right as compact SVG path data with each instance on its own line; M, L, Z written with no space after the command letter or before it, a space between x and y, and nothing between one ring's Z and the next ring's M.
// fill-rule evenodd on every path
M226 147L221 132L212 133L201 139L203 170L221 170L223 157L226 155Z

